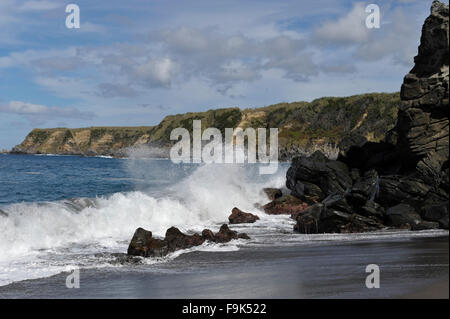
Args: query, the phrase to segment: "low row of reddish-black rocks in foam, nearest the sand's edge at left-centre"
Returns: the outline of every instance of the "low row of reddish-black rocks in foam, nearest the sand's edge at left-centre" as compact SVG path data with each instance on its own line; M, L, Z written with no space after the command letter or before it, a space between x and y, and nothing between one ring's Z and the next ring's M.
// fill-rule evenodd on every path
M205 241L227 243L239 238L250 239L245 233L238 234L236 231L231 230L227 224L223 224L216 234L209 229L205 229L201 235L186 235L178 228L170 227L166 231L164 239L154 238L151 231L138 228L134 232L133 238L128 246L127 254L129 256L163 257L180 249L200 246Z

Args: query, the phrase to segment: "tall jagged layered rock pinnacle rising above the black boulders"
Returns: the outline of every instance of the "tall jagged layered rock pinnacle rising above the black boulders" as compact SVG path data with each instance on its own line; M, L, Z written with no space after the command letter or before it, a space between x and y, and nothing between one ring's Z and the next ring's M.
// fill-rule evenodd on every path
M448 160L449 111L449 9L433 2L422 28L415 66L405 76L398 113L397 147L407 150L407 160L442 166ZM440 168L440 167L439 167Z

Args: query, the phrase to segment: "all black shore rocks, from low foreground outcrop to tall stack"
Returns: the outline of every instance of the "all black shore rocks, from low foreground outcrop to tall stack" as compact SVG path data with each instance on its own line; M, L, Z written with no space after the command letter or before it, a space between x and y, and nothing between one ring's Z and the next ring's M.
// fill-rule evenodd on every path
M449 223L449 7L434 1L425 20L415 66L401 87L396 126L384 141L341 141L336 160L320 151L295 157L286 178L290 194L265 189L267 214L290 214L299 233L352 233L386 228L448 229ZM229 221L256 215L233 209ZM138 228L128 255L164 256L205 241L249 239L222 225L214 234L186 235L175 227L164 239Z

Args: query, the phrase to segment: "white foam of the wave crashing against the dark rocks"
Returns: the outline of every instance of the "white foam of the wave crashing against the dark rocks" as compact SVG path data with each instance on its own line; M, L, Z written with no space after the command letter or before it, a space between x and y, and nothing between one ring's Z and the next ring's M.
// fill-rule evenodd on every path
M159 197L135 191L95 200L3 207L8 216L0 216L0 285L65 271L74 251L79 255L126 252L137 227L151 230L155 236L164 236L171 226L184 232L206 227L217 231L233 207L257 212L253 204L267 201L262 184L253 183L246 170L248 167L235 165L200 166ZM283 175L280 170L265 184L281 186ZM61 254L66 261L55 262L55 256Z

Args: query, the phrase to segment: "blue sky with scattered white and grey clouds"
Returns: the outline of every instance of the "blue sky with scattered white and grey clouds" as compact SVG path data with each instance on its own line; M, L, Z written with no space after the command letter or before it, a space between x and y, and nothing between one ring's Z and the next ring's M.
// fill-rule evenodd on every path
M37 127L399 91L431 2L0 0L0 149Z

